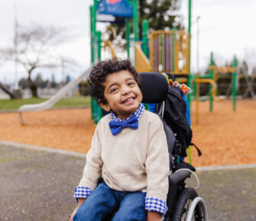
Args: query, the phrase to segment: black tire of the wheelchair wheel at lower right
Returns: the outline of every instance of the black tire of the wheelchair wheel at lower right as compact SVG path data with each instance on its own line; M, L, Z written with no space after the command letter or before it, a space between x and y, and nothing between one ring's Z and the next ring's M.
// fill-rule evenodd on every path
M186 219L186 214L190 209L190 204L192 203L193 199L198 197L196 190L193 188L185 188L180 197L177 200L177 205L173 211L172 219L173 221L183 221ZM203 219L203 209L200 204L196 205L196 209L193 213L193 219L195 221L201 221Z

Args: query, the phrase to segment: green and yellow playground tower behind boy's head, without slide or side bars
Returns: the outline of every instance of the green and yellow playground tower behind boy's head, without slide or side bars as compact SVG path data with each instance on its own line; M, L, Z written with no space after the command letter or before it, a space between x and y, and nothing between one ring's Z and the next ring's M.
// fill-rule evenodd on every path
M115 10L114 10L115 8ZM125 8L125 10L123 10ZM102 45L109 47L112 57L116 56L113 43L103 41L102 33L96 30L98 21L113 22L117 20L125 24L126 54L134 62L138 72L172 72L180 82L190 81L190 18L191 1L189 1L189 30L156 30L148 37L148 23L143 21L142 41L138 40L138 0L134 1L94 1L90 6L91 24L91 62L96 64L102 59ZM112 17L102 19L102 16ZM114 18L113 18L114 17ZM133 39L131 39L131 22ZM115 31L112 30L113 36ZM149 42L148 42L149 39ZM188 95L190 102L190 95ZM102 108L92 99L92 119L97 123L102 117Z

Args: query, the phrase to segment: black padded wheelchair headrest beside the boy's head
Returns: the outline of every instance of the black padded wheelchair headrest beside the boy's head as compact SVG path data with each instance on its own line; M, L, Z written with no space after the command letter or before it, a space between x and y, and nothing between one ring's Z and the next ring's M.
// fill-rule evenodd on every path
M167 78L159 72L141 72L142 102L158 104L165 100L168 92Z

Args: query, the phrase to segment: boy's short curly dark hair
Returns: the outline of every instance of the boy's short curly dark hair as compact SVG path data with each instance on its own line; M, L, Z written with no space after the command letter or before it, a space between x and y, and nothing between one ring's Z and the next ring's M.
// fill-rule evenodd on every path
M134 80L139 86L141 85L140 75L138 75L138 72L134 69L134 66L131 65L131 62L128 59L107 59L105 61L98 62L89 74L89 93L92 95L92 98L96 99L98 103L100 101L102 104L106 104L107 101L104 97L105 87L103 85L105 78L109 74L120 72L122 70L131 72Z

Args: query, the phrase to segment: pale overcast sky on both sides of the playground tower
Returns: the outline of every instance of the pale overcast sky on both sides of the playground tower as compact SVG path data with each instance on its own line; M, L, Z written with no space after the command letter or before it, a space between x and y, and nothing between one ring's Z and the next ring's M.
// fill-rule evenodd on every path
M79 66L69 67L66 74L78 77L90 62L89 54L89 5L92 0L1 0L0 1L0 47L11 44L14 35L16 13L19 24L47 24L65 27L73 40L66 43L60 53L69 56ZM187 24L188 1L181 1L180 13ZM212 51L219 65L238 59L248 59L254 63L256 56L256 1L255 0L192 0L192 71L197 70L197 45L199 37L199 70L203 72L209 64ZM196 18L200 16L196 23ZM199 25L199 26L198 26ZM197 28L199 27L199 35ZM54 72L58 81L62 78L61 69L44 75L50 78ZM18 78L26 76L24 69L18 67ZM0 63L0 81L13 82L15 69L13 63Z

